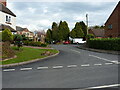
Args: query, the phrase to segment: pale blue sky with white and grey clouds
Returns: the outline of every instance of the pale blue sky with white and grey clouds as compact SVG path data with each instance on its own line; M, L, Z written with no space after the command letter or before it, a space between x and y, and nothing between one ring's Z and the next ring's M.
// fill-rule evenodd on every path
M111 2L10 2L7 7L16 14L17 26L30 31L47 30L53 22L67 21L70 30L76 22L86 23L88 14L89 26L104 25L118 1Z

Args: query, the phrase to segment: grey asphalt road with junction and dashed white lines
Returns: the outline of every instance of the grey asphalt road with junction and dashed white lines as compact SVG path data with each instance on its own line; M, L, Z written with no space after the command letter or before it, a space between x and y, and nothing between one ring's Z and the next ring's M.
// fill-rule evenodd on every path
M52 47L60 50L58 56L3 68L2 87L85 89L119 84L118 55L81 50L76 45Z

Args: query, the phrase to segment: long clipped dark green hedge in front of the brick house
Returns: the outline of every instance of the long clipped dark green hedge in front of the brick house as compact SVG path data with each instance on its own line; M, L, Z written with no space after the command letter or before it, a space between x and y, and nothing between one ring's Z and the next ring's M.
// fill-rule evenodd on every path
M87 44L90 48L120 51L120 38L94 38Z

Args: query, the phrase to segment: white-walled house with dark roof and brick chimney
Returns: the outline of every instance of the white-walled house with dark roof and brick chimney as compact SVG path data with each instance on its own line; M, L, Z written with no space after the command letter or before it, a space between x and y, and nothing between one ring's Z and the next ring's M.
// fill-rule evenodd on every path
M6 7L6 0L0 0L0 32L8 28L13 34L16 33L16 15Z

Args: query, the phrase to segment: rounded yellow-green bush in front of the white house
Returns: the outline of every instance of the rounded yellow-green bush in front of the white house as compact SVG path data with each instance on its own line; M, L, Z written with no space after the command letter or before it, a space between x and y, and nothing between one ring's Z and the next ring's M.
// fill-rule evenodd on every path
M11 42L13 40L13 35L11 33L11 31L6 28L3 32L2 32L2 41L3 42Z

